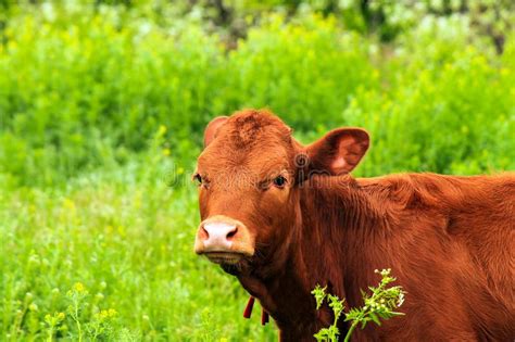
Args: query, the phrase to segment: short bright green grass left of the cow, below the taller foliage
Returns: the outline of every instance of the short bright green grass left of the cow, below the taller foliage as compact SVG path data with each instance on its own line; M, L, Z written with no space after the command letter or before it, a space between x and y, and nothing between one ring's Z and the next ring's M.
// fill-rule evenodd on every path
M59 334L76 340L66 292L77 282L89 293L78 305L86 341L109 308L117 314L103 337L115 341L275 337L258 311L242 318L236 279L193 253L197 188L168 187L173 167L159 153L61 189L2 192L0 340L42 339L55 313L66 315Z

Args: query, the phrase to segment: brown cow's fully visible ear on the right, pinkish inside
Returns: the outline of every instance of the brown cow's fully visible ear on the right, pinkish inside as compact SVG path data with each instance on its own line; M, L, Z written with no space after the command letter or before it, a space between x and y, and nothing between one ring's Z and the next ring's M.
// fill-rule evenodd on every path
M312 172L331 175L350 173L360 163L369 144L368 134L361 128L338 128L307 145Z

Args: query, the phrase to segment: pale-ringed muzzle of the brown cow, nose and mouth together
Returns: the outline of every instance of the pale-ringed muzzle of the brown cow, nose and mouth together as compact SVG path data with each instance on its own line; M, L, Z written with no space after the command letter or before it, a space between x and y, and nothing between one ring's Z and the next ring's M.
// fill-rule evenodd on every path
M254 254L254 239L241 221L215 215L200 224L194 252L216 264L237 264Z

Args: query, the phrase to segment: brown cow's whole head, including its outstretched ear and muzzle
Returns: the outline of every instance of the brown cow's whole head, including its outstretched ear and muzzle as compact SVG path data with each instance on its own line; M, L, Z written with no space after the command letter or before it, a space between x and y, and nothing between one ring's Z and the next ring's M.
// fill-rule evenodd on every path
M349 173L367 148L368 135L357 128L335 129L303 147L266 111L216 117L193 175L202 219L194 251L230 273L277 264L300 223L306 178Z

